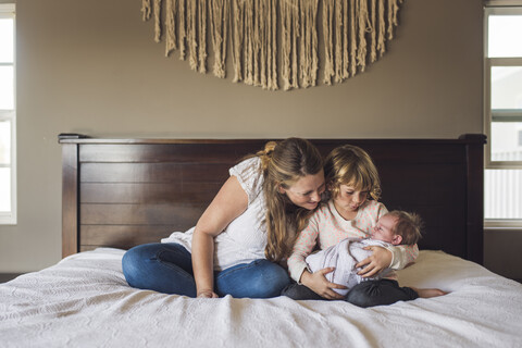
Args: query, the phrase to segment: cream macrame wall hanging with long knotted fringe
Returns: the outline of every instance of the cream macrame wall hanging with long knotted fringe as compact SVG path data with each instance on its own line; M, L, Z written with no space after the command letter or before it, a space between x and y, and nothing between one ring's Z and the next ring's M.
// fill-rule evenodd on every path
M332 85L364 72L394 38L402 0L141 0L165 55L190 69L276 90ZM321 17L318 15L321 12ZM321 23L318 23L321 22ZM322 39L319 35L322 34ZM228 48L228 45L231 46ZM320 51L324 52L320 62ZM232 53L228 53L232 52Z

